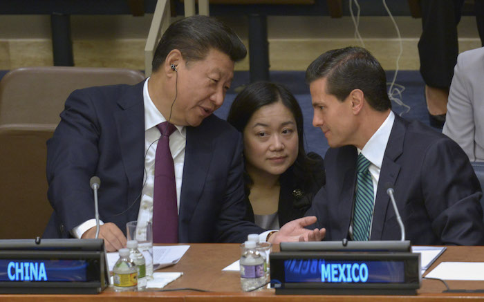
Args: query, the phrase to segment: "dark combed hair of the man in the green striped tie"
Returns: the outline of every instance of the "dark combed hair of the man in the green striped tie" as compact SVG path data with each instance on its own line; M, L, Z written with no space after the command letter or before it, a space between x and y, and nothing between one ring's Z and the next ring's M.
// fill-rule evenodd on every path
M353 89L360 89L376 111L387 111L391 102L387 94L387 77L380 63L361 47L329 50L320 55L306 70L311 84L326 77L326 93L343 102Z

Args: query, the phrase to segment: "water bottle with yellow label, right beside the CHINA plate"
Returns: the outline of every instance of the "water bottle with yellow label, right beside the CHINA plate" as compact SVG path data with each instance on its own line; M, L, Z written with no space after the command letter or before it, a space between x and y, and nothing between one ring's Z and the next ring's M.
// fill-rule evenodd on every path
M138 289L138 269L129 258L129 249L120 249L120 258L113 267L115 292L136 292Z

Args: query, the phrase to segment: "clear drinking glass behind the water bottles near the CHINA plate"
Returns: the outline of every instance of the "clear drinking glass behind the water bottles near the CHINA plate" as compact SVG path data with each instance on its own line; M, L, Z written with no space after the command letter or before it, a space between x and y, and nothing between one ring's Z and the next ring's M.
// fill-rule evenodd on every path
M138 241L138 249L145 256L146 276L153 279L153 225L149 221L130 221L126 224L126 236L128 240Z

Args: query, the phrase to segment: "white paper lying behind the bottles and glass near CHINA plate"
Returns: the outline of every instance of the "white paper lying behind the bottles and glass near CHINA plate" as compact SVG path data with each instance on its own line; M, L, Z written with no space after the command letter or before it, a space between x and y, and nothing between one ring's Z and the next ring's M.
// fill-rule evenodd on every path
M189 247L189 245L153 247L153 270L178 263ZM106 254L108 257L109 270L112 271L116 261L120 258L119 253L111 252Z

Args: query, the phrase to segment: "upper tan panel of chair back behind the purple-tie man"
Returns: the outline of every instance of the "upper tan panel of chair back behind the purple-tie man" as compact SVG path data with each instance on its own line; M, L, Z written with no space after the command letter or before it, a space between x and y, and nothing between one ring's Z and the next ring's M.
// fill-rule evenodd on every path
M145 76L122 68L26 67L0 81L0 124L59 124L64 102L75 89L136 84Z

